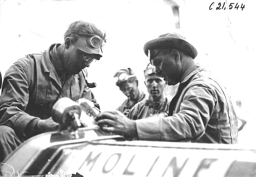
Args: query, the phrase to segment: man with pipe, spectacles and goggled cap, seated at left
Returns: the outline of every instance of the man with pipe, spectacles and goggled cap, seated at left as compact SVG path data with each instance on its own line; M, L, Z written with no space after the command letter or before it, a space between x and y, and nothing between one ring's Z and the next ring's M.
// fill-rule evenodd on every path
M90 22L72 22L62 44L27 55L6 71L0 96L0 161L26 139L58 129L51 111L59 98L96 104L86 67L102 57L105 37Z

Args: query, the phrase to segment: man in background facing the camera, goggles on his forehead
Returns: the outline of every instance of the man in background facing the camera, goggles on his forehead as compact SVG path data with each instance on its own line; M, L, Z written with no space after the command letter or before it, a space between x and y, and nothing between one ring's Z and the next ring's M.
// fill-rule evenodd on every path
M168 115L171 100L167 99L163 93L166 82L162 77L157 76L155 72L156 68L148 64L144 70L144 84L147 87L149 96L131 109L127 115L129 119L144 119L156 114L161 114L164 117Z

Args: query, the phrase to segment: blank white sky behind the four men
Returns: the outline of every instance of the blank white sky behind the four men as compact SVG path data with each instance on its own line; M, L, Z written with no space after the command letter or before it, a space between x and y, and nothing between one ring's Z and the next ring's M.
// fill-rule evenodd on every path
M231 1L222 1L221 7L224 2ZM219 1L215 0L180 0L180 29L176 30L171 9L163 0L0 0L0 71L4 75L26 54L62 43L71 22L91 21L106 31L108 42L104 57L89 68L89 81L97 84L93 92L102 111L114 110L126 99L113 82L114 73L134 69L139 88L147 92L143 69L149 61L143 46L176 31L197 48L195 61L223 80L234 102L242 100L246 119L255 120L256 2L232 2L239 9L216 10ZM254 124L247 127L253 130ZM251 132L245 130L243 136Z

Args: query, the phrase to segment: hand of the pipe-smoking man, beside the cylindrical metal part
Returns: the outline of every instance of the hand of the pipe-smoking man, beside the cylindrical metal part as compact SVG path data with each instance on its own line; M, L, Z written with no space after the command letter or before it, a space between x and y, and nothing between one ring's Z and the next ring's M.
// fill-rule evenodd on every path
M59 128L59 124L57 122L54 122L54 120L52 119L52 117L42 120L40 119L37 122L37 128L39 130L42 130L44 132L47 131L56 131Z

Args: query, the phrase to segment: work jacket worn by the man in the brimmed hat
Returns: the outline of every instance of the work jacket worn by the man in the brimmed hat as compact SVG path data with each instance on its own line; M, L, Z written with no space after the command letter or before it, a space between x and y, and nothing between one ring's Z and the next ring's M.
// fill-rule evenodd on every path
M230 96L199 64L182 76L168 117L135 121L139 140L237 143L237 116Z

